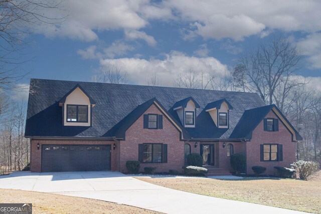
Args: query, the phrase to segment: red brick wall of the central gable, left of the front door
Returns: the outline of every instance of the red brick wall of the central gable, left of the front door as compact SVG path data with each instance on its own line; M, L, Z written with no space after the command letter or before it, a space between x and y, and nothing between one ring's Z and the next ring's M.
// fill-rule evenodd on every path
M162 114L155 105L150 106L144 114ZM140 164L140 171L144 167L156 167L156 172L168 172L170 169L182 171L184 165L184 141L180 141L180 132L163 116L163 129L144 129L143 115L126 131L126 140L120 142L120 172L127 172L126 161L138 160L138 144L164 143L168 144L167 163ZM191 144L191 149L193 149Z

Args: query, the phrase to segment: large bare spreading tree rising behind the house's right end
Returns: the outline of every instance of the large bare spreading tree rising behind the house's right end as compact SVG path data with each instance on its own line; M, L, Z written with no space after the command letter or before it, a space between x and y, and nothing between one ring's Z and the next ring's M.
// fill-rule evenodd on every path
M274 38L254 52L243 55L234 69L234 76L245 74L246 79L241 82L247 83L246 88L272 104L276 88L282 81L283 87L288 88L288 77L300 69L300 59L300 51L295 45L286 39Z

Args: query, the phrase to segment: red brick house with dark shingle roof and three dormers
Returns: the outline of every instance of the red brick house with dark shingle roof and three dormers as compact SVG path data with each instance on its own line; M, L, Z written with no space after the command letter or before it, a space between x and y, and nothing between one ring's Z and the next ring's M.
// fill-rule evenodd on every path
M116 170L127 160L182 170L200 153L211 173L230 156L251 167L289 167L302 140L275 105L255 93L31 79L26 133L31 171ZM215 171L218 169L219 171Z

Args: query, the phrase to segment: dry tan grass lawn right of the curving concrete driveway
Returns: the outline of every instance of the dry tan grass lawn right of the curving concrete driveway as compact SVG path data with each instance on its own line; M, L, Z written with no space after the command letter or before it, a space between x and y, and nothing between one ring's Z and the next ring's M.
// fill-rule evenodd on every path
M321 214L321 171L308 181L256 178L136 178L197 194Z

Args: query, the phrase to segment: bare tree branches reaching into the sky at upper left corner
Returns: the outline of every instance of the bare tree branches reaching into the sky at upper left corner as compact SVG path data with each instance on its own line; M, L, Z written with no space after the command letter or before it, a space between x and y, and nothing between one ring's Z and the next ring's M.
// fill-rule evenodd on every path
M52 10L60 9L63 0L0 0L0 89L12 89L27 73L20 66L23 49L28 44L28 34L33 27L55 24L64 17L50 17Z

